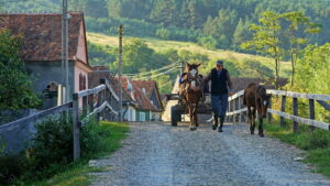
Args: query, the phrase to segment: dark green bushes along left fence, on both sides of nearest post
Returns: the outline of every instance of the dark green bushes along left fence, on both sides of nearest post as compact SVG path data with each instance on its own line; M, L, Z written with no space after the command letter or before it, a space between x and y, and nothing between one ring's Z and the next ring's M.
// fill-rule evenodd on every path
M0 185L15 185L18 179L32 182L51 177L73 163L72 117L52 117L35 128L29 149L21 154L6 154L0 143ZM109 130L102 130L95 119L90 119L80 130L82 161L95 157L105 146L102 138L109 134Z

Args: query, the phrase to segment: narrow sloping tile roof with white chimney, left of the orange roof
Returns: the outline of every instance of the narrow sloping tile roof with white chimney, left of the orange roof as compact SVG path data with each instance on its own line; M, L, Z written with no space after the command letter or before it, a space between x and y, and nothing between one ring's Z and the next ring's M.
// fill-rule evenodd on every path
M155 108L150 102L150 99L142 92L142 89L136 84L134 84L134 81L132 81L127 77L122 77L122 83L127 94L131 95L132 99L134 99L134 101L138 103L136 106L138 109L158 111L158 109ZM129 84L131 84L132 87L129 87ZM129 90L128 88L132 88L132 89Z

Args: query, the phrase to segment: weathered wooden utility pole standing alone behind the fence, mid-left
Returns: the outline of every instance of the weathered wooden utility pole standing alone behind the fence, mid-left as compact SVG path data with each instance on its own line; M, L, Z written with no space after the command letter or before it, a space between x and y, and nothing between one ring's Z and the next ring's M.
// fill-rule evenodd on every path
M119 25L119 63L118 63L118 79L119 79L119 121L122 122L122 35L123 26Z

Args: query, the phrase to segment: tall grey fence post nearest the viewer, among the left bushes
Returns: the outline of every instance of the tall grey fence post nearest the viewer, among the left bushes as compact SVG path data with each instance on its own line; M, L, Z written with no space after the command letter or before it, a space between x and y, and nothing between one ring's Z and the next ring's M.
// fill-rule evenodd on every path
M80 158L80 123L79 123L79 99L78 94L73 95L73 135L74 135L74 160Z

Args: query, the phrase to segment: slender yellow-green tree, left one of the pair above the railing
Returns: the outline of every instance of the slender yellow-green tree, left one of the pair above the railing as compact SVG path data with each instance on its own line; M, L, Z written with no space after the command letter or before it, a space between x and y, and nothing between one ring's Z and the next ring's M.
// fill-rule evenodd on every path
M254 50L263 53L274 59L275 63L275 88L278 88L279 79L279 62L283 54L279 22L279 14L266 11L258 20L260 24L251 24L250 30L253 31L251 41L244 42L241 47L243 50Z

